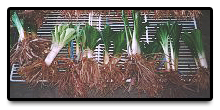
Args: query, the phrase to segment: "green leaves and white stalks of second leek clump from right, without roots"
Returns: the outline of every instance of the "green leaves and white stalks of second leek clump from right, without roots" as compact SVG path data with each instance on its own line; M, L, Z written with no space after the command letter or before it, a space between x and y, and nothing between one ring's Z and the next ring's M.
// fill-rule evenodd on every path
M180 38L180 27L177 23L171 25L167 22L164 25L160 25L156 32L156 38L163 48L165 54L165 68L167 71L172 69L173 71L178 70L178 55L179 55L179 38ZM170 47L169 47L170 46ZM171 50L171 61L169 58L169 51ZM171 64L171 68L170 68Z

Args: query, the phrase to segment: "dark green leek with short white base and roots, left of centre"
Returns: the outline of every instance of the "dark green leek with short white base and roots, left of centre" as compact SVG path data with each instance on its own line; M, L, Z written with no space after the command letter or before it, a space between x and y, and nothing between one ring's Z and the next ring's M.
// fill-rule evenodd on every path
M93 51L100 42L100 32L93 26L86 24L82 30L81 48L82 57L78 63L79 79L89 88L89 91L98 93L101 89L101 74L97 61L93 58Z

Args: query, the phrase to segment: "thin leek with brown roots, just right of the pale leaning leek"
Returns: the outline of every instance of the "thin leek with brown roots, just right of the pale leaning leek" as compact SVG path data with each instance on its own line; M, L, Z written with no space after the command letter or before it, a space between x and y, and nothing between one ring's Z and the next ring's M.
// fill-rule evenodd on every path
M89 97L89 86L88 82L85 81L86 76L81 75L80 71L82 69L82 36L83 30L80 29L80 25L72 25L70 27L75 29L73 34L74 40L76 42L76 57L73 60L67 58L63 64L59 65L59 68L63 68L65 72L60 73L60 79L58 80L58 89L61 97ZM87 67L85 67L87 68ZM90 76L89 76L90 77Z

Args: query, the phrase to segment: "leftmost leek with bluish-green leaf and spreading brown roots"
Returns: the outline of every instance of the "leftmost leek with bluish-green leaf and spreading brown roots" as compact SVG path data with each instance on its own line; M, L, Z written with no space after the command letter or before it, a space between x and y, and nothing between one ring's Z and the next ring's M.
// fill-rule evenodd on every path
M19 32L19 41L10 51L10 64L18 62L22 66L37 59L44 59L49 53L51 41L26 33L15 12L12 21Z

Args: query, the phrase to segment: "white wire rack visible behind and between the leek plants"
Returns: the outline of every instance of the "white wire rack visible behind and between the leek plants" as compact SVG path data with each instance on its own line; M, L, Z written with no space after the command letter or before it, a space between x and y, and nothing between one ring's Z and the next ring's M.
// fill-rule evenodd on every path
M157 24L166 23L167 21L177 21L179 25L182 25L182 31L191 31L196 26L196 20L184 20L184 19L155 19L154 13L150 14L143 14L145 22L149 22L149 27L146 27L146 32L141 37L142 42L151 43L153 42L152 39L155 38L155 33L157 29ZM132 17L128 17L130 26L132 26ZM78 19L73 18L71 20L66 19L61 16L59 12L51 12L45 16L45 22L43 22L42 27L38 30L38 36L40 38L51 39L51 31L54 30L55 25L59 25L62 23L72 22L73 24L81 23L81 26L85 26L85 23L89 23L90 25L96 27L98 30L103 30L106 24L109 24L114 31L120 31L124 29L124 23L120 16L113 16L113 15L91 15L91 14L84 14L80 16ZM183 32L181 32L183 33ZM73 41L72 44L73 48L75 48L75 42ZM94 51L94 58L99 62L103 62L103 49L104 44L99 44L95 51ZM125 50L126 51L126 50ZM75 55L75 51L72 52ZM110 46L109 54L113 55L113 44ZM60 55L68 55L68 49L64 47L58 54ZM126 61L125 59L126 53L122 55L122 61L119 63L123 63ZM10 74L10 81L12 82L25 82L21 79L21 77L17 74L17 70L19 69L18 64L13 64L11 74ZM185 45L185 43L180 40L180 50L179 50L179 65L178 69L182 76L190 77L193 73L196 72L196 64L192 57L192 54L189 48Z

